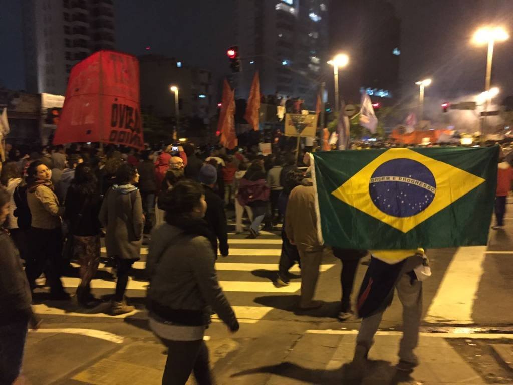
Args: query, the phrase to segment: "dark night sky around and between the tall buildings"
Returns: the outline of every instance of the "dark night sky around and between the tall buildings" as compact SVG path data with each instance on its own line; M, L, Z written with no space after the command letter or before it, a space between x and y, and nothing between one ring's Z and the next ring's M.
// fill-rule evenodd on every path
M136 55L151 52L175 56L185 64L212 70L217 75L225 74L228 70L225 50L233 43L233 2L116 0L117 48ZM417 92L411 84L425 76L433 78L430 94L440 98L481 90L486 48L470 44L472 32L486 21L504 25L513 35L511 0L391 2L402 20L401 83L405 98ZM24 88L19 3L19 0L0 0L3 52L0 86L11 89ZM149 51L145 49L148 46ZM496 46L492 83L499 85L503 94L513 93L511 52L513 38Z

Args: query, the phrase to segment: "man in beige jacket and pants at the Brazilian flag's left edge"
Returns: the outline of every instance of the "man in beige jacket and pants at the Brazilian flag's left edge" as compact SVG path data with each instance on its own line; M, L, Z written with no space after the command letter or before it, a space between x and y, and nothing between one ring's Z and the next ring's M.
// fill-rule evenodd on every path
M324 246L317 237L317 215L310 175L289 196L285 213L285 232L290 243L298 248L301 260L301 297L299 308L310 310L320 307L322 301L313 301L319 277L319 265Z

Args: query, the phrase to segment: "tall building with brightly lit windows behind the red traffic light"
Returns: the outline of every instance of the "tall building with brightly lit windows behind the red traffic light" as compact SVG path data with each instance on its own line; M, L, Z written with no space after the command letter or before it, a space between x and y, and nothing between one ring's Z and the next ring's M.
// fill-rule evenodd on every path
M241 0L235 34L243 71L233 81L237 98L247 99L255 70L260 92L305 100L315 107L326 69L329 0Z

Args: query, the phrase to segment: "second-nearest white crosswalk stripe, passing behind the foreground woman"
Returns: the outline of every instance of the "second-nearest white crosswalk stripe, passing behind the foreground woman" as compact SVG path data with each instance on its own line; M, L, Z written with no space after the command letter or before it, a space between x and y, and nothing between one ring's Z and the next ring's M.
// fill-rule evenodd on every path
M64 287L76 288L80 283L80 278L64 277L62 281ZM274 285L269 281L219 281L219 283L225 292L245 293L295 293L301 287L301 283L299 282L291 282L285 287L274 287ZM114 289L116 287L116 282L105 281L103 279L93 279L91 281L91 287ZM148 282L130 280L128 282L127 290L146 290L147 287Z

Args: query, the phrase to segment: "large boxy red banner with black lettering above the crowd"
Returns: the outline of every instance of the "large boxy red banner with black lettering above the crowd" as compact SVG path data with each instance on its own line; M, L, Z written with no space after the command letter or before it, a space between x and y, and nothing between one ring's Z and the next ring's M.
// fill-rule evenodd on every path
M143 149L139 62L98 51L72 69L53 144L102 142Z

